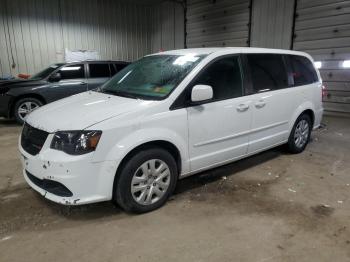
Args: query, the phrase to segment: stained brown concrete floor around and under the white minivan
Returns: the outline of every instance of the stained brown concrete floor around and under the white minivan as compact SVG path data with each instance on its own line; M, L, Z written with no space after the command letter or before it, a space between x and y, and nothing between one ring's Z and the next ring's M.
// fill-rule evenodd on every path
M0 261L350 261L350 119L178 183L161 209L63 207L24 182L20 127L0 119Z

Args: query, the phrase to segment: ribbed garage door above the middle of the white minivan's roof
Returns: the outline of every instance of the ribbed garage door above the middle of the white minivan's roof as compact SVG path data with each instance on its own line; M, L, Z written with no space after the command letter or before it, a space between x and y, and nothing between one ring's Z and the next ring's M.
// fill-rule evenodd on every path
M187 47L248 46L247 0L188 0Z

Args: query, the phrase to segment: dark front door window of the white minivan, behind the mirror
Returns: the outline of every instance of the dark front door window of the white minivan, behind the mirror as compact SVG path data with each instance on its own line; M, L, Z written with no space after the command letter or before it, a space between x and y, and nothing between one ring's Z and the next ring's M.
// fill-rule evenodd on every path
M210 64L195 80L194 85L210 85L214 100L223 100L243 95L239 58L226 57Z

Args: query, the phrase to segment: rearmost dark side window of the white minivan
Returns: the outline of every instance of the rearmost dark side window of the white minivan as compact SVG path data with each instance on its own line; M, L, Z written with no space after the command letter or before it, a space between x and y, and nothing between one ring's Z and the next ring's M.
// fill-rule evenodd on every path
M304 56L289 55L294 86L307 85L318 81L312 62Z

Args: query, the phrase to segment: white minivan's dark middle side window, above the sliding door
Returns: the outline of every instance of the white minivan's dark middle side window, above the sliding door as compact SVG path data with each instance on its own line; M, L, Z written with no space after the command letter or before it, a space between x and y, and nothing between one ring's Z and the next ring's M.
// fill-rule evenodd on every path
M248 54L247 60L255 92L288 87L287 71L282 55Z

